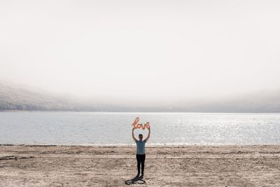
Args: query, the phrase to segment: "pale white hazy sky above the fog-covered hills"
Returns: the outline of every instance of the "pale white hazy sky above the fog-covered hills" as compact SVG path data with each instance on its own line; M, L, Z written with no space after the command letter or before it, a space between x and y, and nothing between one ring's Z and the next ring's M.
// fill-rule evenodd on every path
M0 1L0 79L90 98L280 88L280 1Z

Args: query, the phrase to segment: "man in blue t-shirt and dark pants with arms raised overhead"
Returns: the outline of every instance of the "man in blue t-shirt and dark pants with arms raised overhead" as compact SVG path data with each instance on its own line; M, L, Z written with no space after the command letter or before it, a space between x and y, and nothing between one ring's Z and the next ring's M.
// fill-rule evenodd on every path
M134 129L135 128L132 128L132 138L134 142L137 144L137 154L136 154L137 170L138 170L137 176L140 175L140 165L141 165L141 175L142 177L144 177L144 167L145 167L145 158L146 158L145 144L146 142L148 142L148 139L150 138L151 128L148 128L149 130L148 137L146 137L144 141L143 141L142 134L139 134L139 140L135 138Z

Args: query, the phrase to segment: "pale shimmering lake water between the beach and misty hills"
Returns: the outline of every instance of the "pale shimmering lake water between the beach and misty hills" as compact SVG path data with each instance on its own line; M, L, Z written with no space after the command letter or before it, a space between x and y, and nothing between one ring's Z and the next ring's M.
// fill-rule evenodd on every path
M0 112L0 144L280 144L280 114ZM135 136L148 130L135 130Z

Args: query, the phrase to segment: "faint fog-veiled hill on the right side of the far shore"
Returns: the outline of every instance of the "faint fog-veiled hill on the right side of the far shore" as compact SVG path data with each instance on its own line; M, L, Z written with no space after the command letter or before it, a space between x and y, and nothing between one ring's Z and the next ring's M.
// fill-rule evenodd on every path
M179 112L276 113L280 112L280 91L258 91L215 100L181 102L174 110Z

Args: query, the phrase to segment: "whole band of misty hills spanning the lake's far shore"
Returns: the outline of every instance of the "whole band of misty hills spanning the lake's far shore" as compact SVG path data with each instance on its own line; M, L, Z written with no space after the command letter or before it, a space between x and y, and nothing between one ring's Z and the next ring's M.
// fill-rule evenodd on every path
M0 82L0 111L89 111L89 112L280 112L280 91L260 91L246 96L215 100L178 100L166 106L145 107L80 101L44 91Z

